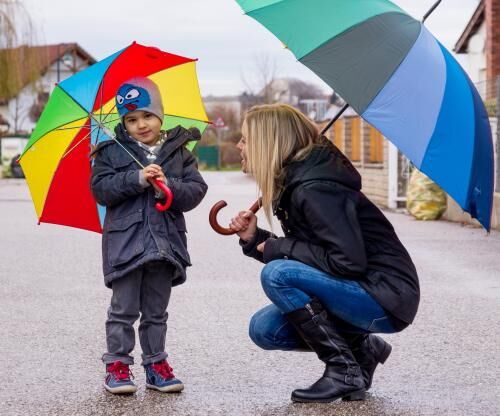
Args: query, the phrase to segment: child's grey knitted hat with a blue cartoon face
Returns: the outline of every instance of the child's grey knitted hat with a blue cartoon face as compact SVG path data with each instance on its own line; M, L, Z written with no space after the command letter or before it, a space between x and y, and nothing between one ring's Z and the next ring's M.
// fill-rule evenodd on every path
M136 111L148 111L163 122L163 104L158 86L145 77L134 77L123 83L116 93L116 108L123 118Z

